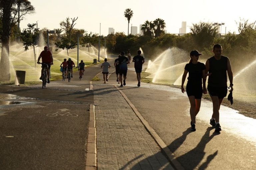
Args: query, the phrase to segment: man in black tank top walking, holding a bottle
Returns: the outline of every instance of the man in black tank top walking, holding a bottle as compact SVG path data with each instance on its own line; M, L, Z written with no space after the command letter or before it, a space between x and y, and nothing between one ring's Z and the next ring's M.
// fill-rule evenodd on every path
M213 114L210 124L215 127L215 131L221 131L219 124L219 110L223 98L227 96L227 72L231 90L233 91L233 72L230 60L222 54L222 46L215 44L212 52L214 56L209 58L205 63L205 73L211 73L208 78L208 91L213 103ZM206 81L206 79L204 79Z

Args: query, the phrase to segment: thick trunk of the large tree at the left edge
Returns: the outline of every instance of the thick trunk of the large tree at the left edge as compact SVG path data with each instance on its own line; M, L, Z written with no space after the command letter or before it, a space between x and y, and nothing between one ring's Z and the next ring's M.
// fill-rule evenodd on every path
M14 3L13 0L2 1L2 52L1 52L1 60L0 60L0 81L10 81L10 49L9 49L9 38L10 38L10 16L11 16L11 7Z

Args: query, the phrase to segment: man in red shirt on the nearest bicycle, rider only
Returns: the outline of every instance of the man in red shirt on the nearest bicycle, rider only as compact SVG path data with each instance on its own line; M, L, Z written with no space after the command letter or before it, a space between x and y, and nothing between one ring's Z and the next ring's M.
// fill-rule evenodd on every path
M50 83L50 68L51 65L53 64L53 58L52 58L52 53L51 51L48 50L48 47L45 46L44 50L40 53L38 59L37 59L37 64L40 64L40 58L42 58L42 70L41 70L41 77L39 78L40 80L43 79L42 75L43 75L43 71L44 68L46 67L47 70L47 83Z

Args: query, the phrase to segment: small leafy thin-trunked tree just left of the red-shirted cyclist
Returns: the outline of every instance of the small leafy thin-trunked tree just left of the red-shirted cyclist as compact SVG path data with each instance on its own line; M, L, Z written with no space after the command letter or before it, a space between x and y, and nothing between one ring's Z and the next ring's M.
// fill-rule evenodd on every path
M25 51L28 50L29 46L33 46L34 50L34 59L35 59L35 67L36 67L36 52L35 46L38 45L39 40L39 29L35 28L36 24L28 24L28 28L24 29L21 33L21 39L23 41L23 46Z

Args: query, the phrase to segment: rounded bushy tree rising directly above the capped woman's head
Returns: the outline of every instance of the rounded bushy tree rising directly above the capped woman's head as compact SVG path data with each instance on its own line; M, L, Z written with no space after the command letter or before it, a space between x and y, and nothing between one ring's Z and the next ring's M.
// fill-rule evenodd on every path
M217 27L212 23L200 22L199 24L193 24L190 30L197 49L200 51L208 49L217 36Z

